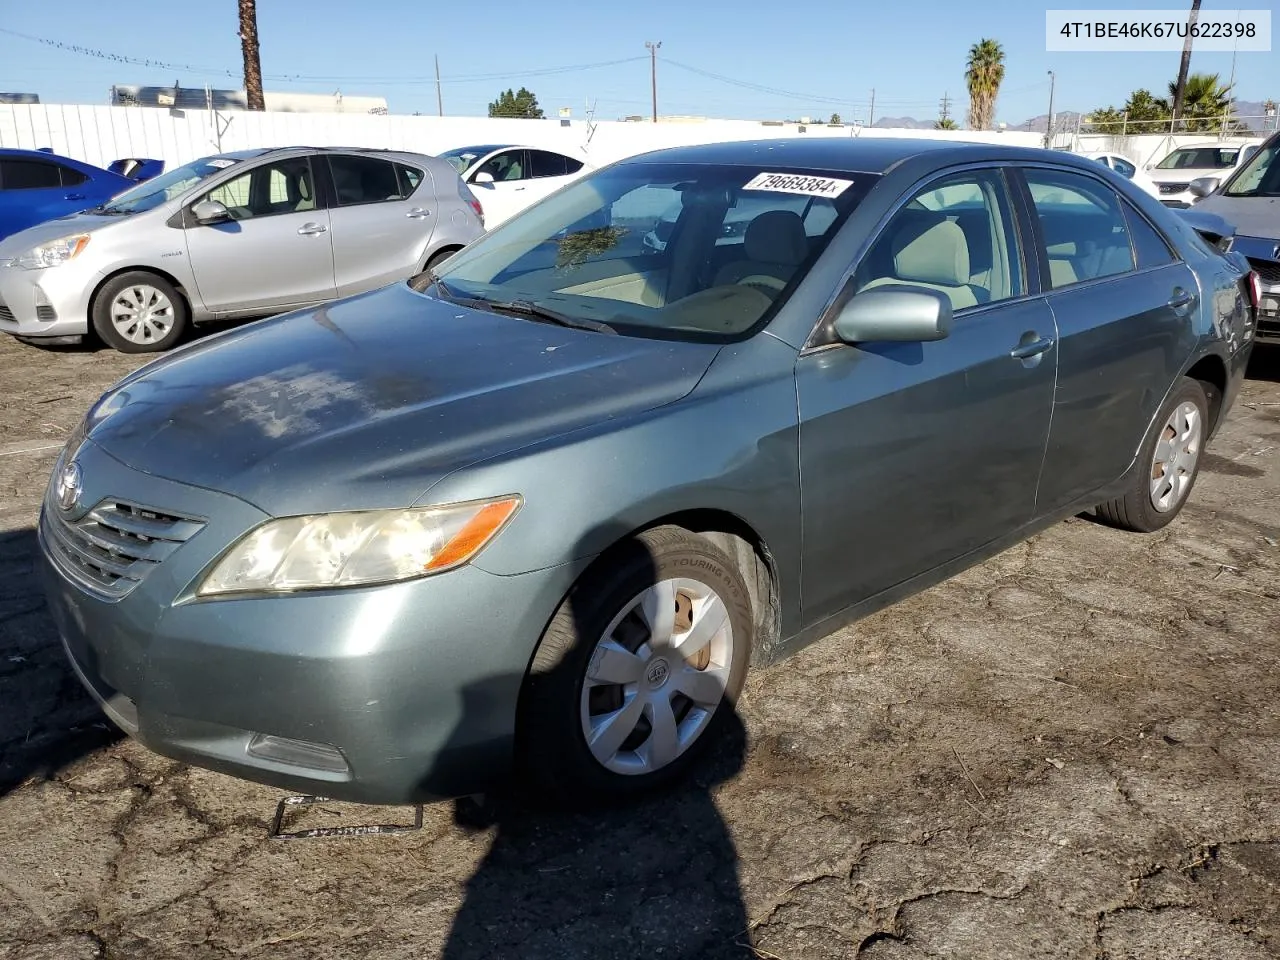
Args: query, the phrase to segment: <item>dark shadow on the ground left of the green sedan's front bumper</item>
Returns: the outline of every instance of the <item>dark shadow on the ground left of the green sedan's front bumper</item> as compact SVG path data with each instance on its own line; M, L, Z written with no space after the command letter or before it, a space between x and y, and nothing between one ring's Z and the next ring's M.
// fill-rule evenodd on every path
M76 678L36 577L36 531L0 534L0 796L123 733Z

